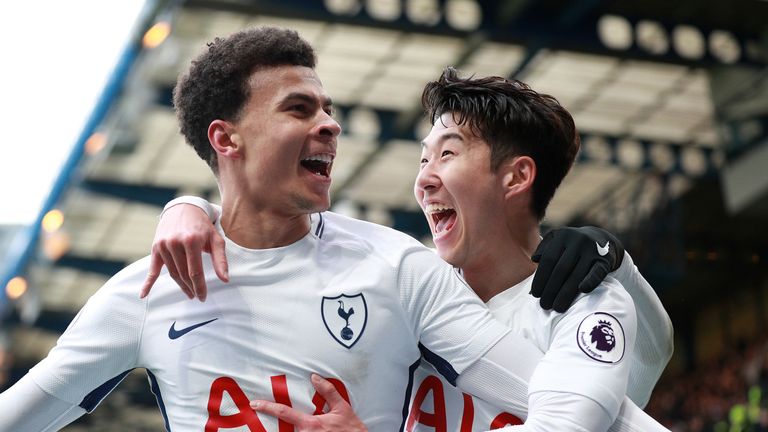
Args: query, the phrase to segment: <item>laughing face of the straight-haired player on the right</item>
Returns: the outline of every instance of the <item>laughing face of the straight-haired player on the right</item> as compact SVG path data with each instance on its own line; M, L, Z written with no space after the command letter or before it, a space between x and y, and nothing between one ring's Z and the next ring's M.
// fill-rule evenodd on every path
M504 190L491 149L443 114L422 141L414 194L441 258L466 268L482 260L504 224Z

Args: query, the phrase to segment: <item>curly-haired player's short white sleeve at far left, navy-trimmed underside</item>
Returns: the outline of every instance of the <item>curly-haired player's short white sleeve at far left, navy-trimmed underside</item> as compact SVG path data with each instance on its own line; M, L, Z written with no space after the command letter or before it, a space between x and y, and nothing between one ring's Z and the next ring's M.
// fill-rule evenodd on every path
M146 301L138 298L143 259L94 294L48 356L29 371L46 393L90 412L135 367Z

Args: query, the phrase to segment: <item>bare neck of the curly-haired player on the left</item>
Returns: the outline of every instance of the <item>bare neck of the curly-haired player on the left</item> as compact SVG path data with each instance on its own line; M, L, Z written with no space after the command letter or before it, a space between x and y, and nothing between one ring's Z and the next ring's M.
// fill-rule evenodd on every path
M309 214L286 215L254 206L253 199L222 196L221 227L227 237L248 249L287 246L307 235Z

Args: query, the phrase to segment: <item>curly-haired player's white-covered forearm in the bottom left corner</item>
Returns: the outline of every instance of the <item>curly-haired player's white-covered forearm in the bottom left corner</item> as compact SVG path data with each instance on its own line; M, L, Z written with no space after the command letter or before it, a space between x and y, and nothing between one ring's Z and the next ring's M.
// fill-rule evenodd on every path
M24 376L0 394L0 430L54 431L85 414L76 404L43 391L29 376Z

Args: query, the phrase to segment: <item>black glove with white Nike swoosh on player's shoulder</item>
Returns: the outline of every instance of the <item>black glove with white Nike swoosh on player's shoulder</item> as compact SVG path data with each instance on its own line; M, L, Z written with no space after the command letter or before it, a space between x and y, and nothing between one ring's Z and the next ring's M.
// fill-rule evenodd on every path
M624 259L624 246L608 231L591 226L547 233L531 260L539 263L531 295L544 309L565 312L579 293L592 292Z

